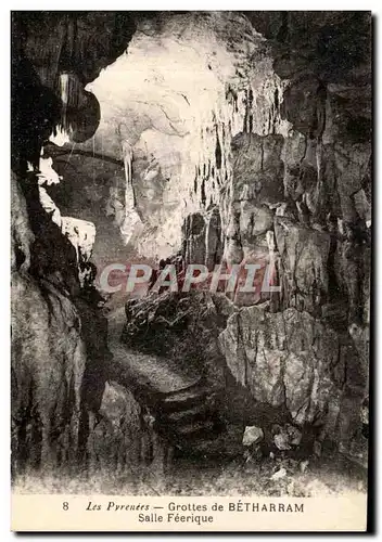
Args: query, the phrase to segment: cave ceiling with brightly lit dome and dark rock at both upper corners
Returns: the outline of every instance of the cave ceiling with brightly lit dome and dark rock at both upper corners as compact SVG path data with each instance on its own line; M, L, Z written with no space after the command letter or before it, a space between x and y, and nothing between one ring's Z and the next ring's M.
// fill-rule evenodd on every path
M259 89L265 78L291 85L309 74L349 111L357 100L370 116L367 12L35 12L16 20L42 83L54 87L69 68L100 103L96 136L77 150L120 159L122 138L133 145L147 133L148 145L154 132L173 137L177 152L195 124L214 122L230 92L249 83L259 98L275 92L277 85ZM241 129L232 127L233 136Z

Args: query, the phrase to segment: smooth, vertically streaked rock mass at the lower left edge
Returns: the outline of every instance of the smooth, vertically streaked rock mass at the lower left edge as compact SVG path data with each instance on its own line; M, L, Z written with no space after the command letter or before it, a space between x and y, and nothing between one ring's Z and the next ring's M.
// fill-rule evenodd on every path
M13 469L73 466L86 363L80 320L64 292L27 273L34 235L15 178L11 185L12 249L18 255L12 264Z

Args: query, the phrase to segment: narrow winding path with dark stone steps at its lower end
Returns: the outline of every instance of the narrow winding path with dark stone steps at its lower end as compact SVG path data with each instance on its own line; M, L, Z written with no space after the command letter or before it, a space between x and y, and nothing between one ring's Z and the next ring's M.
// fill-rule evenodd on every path
M155 418L155 431L180 452L216 453L226 427L219 417L221 390L213 388L200 374L180 370L169 359L144 354L120 343L126 322L119 308L109 315L109 347L120 384Z

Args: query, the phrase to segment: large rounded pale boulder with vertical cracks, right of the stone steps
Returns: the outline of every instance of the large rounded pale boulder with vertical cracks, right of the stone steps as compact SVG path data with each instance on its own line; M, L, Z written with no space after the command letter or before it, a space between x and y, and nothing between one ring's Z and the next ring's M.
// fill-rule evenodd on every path
M332 404L340 390L332 374L339 338L307 312L243 308L229 318L219 339L230 371L256 401L285 404L301 426L336 416Z

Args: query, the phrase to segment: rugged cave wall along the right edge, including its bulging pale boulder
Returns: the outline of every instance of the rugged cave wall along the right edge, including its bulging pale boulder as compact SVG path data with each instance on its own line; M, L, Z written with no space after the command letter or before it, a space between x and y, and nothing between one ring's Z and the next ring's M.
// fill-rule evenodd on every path
M249 17L259 24L256 15ZM260 305L239 310L221 340L232 374L251 389L254 399L285 404L297 425L323 416L324 436L347 451L349 441L361 441L362 452L358 452L365 463L367 451L360 431L369 371L371 216L366 186L371 160L370 16L349 16L348 23L359 20L366 33L358 34L357 44L346 41L348 28L343 20L340 24L336 15L333 20L329 14L320 17L310 26L306 14L291 13L280 15L277 33L272 27L277 17L268 20L269 26L258 27L266 37L272 36L275 70L289 79L280 114L291 130L281 138L270 171L263 149L265 144L269 149L272 133L257 139L242 134L243 143L239 139L239 144L233 139L233 193L237 186L242 190L243 170L252 180L253 193L244 191L251 202L245 206L241 202L239 206L237 196L232 198L235 228L229 231L226 247L233 246L233 250L226 255L232 254L231 259L240 262L245 258L247 224L255 224L258 232L251 240L252 248L259 244L264 224L275 233L281 293L276 312L275 306L268 313L269 308ZM294 48L302 47L305 39L309 46L304 54L298 51L296 59ZM342 62L342 54L346 61ZM360 96L359 107L353 102L355 95ZM251 144L257 146L260 164L255 149L250 151ZM245 162L249 164L242 169ZM279 189L276 199L263 199L262 185L270 191L272 185ZM278 205L272 208L275 203ZM259 216L262 204L267 212ZM251 212L255 217L252 221L247 219ZM253 229L252 234L255 232ZM284 334L278 332L279 325L285 328ZM285 358L281 353L284 349ZM321 357L327 369L320 364ZM264 374L268 376L264 378Z

